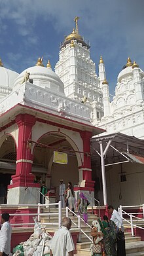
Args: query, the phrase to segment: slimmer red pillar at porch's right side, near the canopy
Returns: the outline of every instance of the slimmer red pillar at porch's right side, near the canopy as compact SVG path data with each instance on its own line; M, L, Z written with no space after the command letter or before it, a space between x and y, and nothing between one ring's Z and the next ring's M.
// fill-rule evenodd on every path
M94 189L94 181L92 181L92 169L91 169L91 156L90 156L90 138L92 137L92 132L84 131L81 132L81 137L83 140L83 151L84 151L84 162L81 167L82 178L85 180L85 187L87 189Z

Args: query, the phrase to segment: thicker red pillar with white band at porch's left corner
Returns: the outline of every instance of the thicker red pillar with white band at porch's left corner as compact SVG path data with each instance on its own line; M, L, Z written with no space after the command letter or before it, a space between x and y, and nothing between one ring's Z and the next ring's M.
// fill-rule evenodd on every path
M18 148L16 158L16 174L12 175L12 187L37 187L33 183L34 175L31 174L33 155L27 141L31 139L31 132L35 124L35 117L28 114L16 116L18 124Z

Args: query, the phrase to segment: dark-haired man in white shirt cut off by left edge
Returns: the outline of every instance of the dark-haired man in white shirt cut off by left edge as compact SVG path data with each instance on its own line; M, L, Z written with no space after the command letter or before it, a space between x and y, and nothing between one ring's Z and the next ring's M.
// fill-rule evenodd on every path
M8 256L10 253L10 241L12 228L9 223L9 213L1 215L1 230L0 230L0 256Z

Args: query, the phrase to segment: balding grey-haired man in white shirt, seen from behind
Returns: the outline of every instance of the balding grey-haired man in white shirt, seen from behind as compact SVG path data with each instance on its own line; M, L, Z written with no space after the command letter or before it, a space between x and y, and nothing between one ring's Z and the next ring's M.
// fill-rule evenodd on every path
M71 219L64 217L62 227L54 233L52 238L50 256L73 256L75 246L69 229L71 229Z

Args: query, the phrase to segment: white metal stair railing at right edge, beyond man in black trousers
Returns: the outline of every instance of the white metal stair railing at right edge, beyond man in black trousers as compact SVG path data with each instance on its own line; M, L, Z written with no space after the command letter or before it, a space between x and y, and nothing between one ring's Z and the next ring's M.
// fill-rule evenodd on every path
M140 218L140 217L137 217L135 215L138 215L138 214L141 214L142 212L126 212L124 210L122 210L122 208L139 208L139 209L143 209L143 218ZM134 227L137 227L138 229L143 229L144 230L144 227L141 227L141 226L138 226L138 225L135 225L134 224L134 219L138 219L139 221L143 221L143 226L144 226L144 204L141 205L141 206L120 206L118 208L118 213L120 214L120 217L122 217L122 219L124 221L126 221L127 223L130 224L131 226L131 233L132 233L132 236L135 236L134 234ZM126 215L127 217L130 218L130 221L128 221L128 219L124 218L123 215Z

